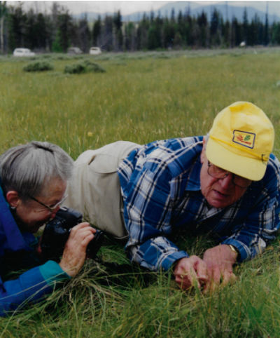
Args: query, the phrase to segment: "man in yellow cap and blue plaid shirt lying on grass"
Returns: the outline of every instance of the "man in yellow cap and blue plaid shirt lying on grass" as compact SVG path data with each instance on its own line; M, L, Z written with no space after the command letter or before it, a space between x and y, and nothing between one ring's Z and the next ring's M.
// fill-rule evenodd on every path
M221 111L206 137L116 142L76 161L66 204L115 236L128 235L133 262L173 269L183 289L205 290L235 278L279 228L279 169L274 128L250 102ZM174 229L215 234L202 258L169 240ZM186 248L188 249L188 248Z

